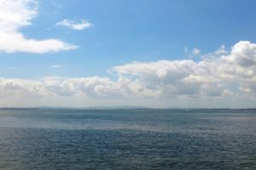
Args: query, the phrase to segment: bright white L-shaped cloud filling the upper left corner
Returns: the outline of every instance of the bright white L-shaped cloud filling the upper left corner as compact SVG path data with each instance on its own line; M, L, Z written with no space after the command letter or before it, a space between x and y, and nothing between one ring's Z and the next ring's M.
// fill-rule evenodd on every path
M0 51L44 54L77 48L54 38L35 40L25 37L20 28L32 25L31 20L37 14L36 0L0 0Z

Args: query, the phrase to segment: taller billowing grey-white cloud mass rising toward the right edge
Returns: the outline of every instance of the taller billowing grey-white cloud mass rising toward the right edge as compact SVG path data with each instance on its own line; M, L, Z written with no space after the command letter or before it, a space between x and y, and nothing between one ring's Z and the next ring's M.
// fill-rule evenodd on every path
M231 48L230 54L219 57L212 53L216 57L199 62L159 60L115 66L112 71L121 77L133 77L140 87L154 89L160 96L221 96L226 90L239 94L244 89L256 97L252 85L256 82L255 47L254 43L241 41Z

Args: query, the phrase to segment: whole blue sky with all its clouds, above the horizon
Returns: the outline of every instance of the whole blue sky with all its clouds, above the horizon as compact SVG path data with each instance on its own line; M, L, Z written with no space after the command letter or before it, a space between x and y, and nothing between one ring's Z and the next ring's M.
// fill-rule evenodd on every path
M255 8L0 0L0 107L255 107Z

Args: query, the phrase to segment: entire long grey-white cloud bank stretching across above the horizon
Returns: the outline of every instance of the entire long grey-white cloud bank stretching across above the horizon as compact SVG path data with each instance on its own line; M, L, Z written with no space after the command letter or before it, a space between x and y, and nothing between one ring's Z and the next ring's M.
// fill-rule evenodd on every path
M219 50L224 53L219 53ZM237 42L201 61L133 62L110 69L109 77L0 79L0 95L84 96L88 99L256 99L256 44Z

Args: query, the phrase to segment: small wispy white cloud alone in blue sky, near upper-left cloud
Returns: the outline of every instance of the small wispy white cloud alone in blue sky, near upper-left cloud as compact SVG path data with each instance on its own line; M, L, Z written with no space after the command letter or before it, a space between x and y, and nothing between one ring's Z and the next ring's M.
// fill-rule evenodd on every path
M65 26L72 30L81 31L81 30L84 30L84 28L89 28L91 24L86 20L81 20L79 23L76 23L73 20L65 19L65 20L61 20L60 22L57 22L56 26Z

